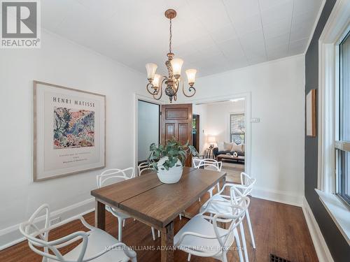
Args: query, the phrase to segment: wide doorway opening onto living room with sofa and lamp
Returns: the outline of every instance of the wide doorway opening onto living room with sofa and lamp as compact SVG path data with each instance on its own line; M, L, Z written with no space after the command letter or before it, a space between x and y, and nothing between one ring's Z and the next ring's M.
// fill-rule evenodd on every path
M228 174L227 179L231 182L239 182L241 172L248 172L250 121L247 119L250 119L250 99L247 97L193 103L193 119L195 115L200 116L199 128L193 122L193 143L198 141L197 151L204 156L207 152L214 152L214 158L223 162L222 170ZM199 136L196 136L197 133Z

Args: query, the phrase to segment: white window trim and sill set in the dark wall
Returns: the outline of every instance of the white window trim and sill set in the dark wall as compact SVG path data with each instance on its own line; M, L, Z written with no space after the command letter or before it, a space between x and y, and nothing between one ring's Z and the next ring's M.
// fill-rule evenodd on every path
M349 1L338 0L318 40L318 181L315 190L350 245L350 226L349 223L344 223L344 212L349 212L350 216L350 209L335 195L335 141L339 131L335 129L339 126L335 111L339 106L339 101L335 99L339 96L337 47L350 29L349 12ZM335 202L341 208L332 208Z

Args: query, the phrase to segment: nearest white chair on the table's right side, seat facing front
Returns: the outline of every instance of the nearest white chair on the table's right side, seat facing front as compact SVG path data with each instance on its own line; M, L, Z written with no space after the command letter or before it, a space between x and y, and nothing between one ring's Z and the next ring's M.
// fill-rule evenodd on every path
M215 259L227 262L227 253L233 242L236 242L239 261L243 262L241 244L237 232L237 226L244 219L246 208L249 205L249 198L241 198L237 205L231 205L227 201L210 200L207 208L212 203L225 205L230 208L230 212L225 214L215 214L214 217L204 215L207 210L197 214L180 229L174 237L175 247L188 253L190 256L214 257ZM218 223L229 224L228 229L221 228Z

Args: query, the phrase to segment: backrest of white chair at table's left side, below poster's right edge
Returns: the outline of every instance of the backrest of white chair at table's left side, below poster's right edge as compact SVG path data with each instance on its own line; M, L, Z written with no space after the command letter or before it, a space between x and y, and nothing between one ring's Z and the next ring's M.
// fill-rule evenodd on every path
M112 168L109 170L105 170L101 173L101 175L97 175L97 187L104 187L109 184L117 183L123 180L129 180L133 177L135 177L134 168Z

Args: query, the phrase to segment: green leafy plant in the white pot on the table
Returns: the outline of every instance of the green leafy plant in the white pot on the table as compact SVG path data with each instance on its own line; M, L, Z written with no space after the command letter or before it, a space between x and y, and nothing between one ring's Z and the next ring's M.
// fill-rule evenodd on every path
M148 157L148 164L156 171L158 171L158 161L162 157L168 157L168 159L162 164L160 169L169 170L174 166L180 166L177 164L177 161L180 160L182 166L185 164L185 161L189 154L192 154L194 157L198 156L198 152L190 145L187 141L185 145L181 145L181 143L172 138L171 140L167 140L165 145L156 145L153 143L150 146L151 154Z

